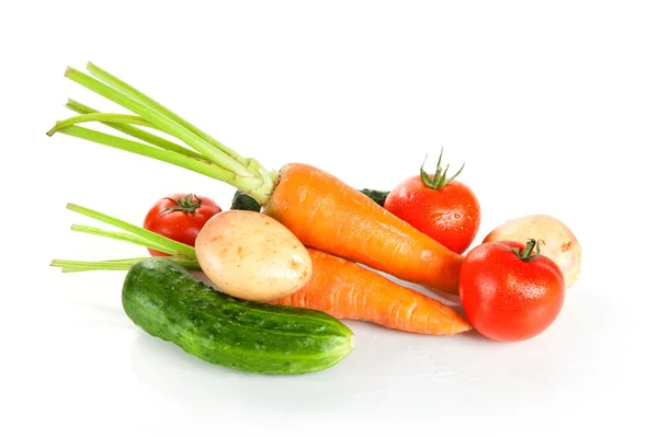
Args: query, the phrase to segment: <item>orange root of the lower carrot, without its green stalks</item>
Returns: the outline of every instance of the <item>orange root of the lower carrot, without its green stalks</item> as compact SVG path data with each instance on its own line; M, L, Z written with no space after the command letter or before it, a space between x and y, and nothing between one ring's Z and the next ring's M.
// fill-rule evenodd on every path
M451 335L472 328L466 319L440 301L344 258L311 249L308 252L313 260L309 283L273 303L428 335Z

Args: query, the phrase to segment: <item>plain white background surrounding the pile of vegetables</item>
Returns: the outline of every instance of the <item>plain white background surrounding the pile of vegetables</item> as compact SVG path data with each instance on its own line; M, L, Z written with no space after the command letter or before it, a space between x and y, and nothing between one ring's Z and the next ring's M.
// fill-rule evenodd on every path
M0 436L553 436L655 433L655 2L11 2L1 12ZM477 241L518 216L565 221L582 276L517 344L348 322L356 349L298 377L214 367L135 327L139 256L75 234L67 201L140 223L172 192L232 189L66 136L63 77L92 60L272 169L390 188L441 146L478 195ZM421 290L421 289L419 289Z

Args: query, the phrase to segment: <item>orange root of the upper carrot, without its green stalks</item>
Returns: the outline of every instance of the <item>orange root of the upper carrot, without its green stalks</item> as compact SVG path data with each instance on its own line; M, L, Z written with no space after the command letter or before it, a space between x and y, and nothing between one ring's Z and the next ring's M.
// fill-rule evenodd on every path
M317 168L286 164L263 212L306 246L458 293L464 257Z

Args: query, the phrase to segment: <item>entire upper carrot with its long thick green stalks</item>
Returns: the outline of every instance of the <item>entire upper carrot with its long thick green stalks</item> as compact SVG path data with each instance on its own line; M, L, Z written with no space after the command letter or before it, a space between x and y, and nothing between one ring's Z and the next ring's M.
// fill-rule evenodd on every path
M101 68L89 64L88 70L98 79L72 68L68 68L65 76L135 114L89 112L58 122L48 135L59 131L226 182L254 198L265 214L293 231L306 246L360 262L407 281L458 292L457 276L464 258L364 194L306 164L287 164L280 172L270 171ZM69 106L80 110L77 103L69 102ZM121 128L144 142L78 126L89 122ZM156 135L147 138L141 130L131 134L138 129L135 126L160 130L186 147ZM203 159L198 159L200 154Z

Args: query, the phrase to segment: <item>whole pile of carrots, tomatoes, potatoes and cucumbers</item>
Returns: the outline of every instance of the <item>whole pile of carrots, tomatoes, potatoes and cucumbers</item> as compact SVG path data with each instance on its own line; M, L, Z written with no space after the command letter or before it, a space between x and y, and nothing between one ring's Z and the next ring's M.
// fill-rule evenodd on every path
M506 222L466 253L479 230L480 205L455 180L464 165L453 175L443 169L443 151L431 174L423 163L389 192L358 191L308 164L269 170L98 66L89 64L88 71L68 68L66 77L127 113L69 101L79 115L58 122L49 136L164 161L237 192L226 210L197 194L162 197L143 227L70 204L72 211L123 230L75 231L138 244L150 256L52 265L127 270L127 316L203 360L248 372L322 370L354 348L341 320L423 335L475 328L501 342L527 339L557 319L565 290L578 279L578 241L545 215ZM89 123L118 132L82 126ZM458 296L465 315L381 273Z

